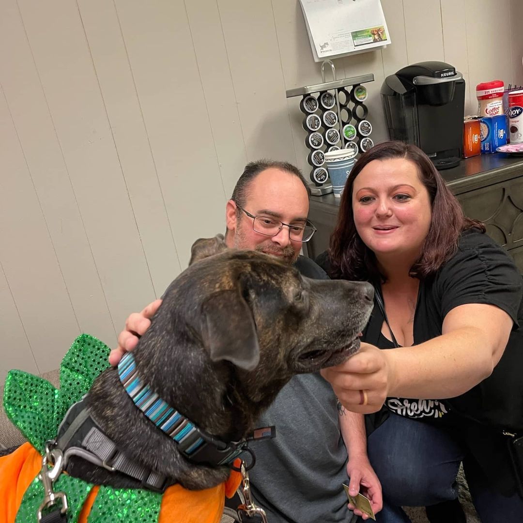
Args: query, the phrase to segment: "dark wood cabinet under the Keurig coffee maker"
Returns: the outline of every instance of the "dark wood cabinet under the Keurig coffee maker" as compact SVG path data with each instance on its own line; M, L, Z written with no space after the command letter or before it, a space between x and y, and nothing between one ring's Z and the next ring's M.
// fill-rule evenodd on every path
M441 171L465 215L485 223L487 234L503 245L523 273L523 157L488 154L462 160ZM310 197L309 218L317 228L304 254L315 258L328 248L339 210L332 194Z

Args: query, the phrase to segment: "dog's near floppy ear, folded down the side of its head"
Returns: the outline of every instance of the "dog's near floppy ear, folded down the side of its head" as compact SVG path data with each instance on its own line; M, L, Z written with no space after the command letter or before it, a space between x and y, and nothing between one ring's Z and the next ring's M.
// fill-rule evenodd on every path
M253 315L238 290L215 292L202 305L202 338L212 361L254 370L260 354Z

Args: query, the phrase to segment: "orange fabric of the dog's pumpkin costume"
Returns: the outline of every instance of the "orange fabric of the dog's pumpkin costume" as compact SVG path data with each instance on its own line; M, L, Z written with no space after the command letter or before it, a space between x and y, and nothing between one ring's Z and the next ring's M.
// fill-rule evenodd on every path
M22 498L41 468L42 457L30 443L0 458L0 523L15 522ZM225 496L232 497L240 483L240 473L231 471L225 483L206 490L189 491L172 485L162 497L158 523L169 523L173 516L183 517L186 523L219 523ZM87 496L78 523L88 523L97 492L95 486Z

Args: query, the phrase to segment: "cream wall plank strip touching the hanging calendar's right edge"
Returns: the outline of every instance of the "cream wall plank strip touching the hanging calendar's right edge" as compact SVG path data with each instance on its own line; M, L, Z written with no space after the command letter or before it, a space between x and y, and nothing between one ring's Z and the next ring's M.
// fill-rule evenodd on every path
M388 76L412 63L412 60L407 55L403 0L384 0L381 6L392 41L390 46L381 50L384 74Z

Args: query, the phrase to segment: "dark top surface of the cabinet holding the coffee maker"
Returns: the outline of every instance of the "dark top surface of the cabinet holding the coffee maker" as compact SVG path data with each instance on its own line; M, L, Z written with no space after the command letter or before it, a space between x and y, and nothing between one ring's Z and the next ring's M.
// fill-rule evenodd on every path
M457 167L441 170L440 174L445 179L454 194L461 194L486 184L504 181L523 173L523 156L506 153L481 154L461 160ZM327 194L324 196L311 196L311 207L317 203L339 207L339 198Z

